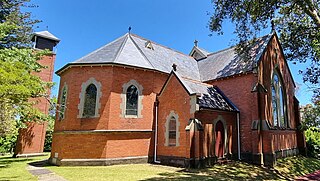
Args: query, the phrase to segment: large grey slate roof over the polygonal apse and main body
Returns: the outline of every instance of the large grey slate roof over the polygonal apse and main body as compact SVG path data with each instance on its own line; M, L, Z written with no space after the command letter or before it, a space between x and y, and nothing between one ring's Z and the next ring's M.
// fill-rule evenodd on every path
M152 41L153 49L149 49L145 46L147 41L150 40L127 33L68 65L113 63L170 73L172 64L176 64L182 76L200 80L197 61L192 57Z

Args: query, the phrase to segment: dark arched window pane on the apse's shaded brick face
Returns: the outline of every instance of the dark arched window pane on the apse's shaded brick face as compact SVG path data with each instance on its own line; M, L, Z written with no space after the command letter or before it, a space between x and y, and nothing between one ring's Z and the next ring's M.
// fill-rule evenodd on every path
M94 117L96 111L97 87L90 84L86 88L83 105L83 117Z

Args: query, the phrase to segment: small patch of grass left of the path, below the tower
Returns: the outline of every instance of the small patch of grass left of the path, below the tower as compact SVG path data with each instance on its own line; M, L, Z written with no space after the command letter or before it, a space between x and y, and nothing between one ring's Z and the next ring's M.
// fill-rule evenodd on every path
M0 156L0 180L37 180L26 169L27 164L48 156L31 158L12 158L12 155Z

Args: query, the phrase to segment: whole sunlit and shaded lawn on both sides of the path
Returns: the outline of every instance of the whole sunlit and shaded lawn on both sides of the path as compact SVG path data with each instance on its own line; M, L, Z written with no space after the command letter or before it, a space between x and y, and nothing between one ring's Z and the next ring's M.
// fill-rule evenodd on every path
M36 180L26 170L27 163L47 157L10 158L0 157L0 180ZM320 170L320 160L302 156L278 161L274 169L243 162L215 165L206 169L185 170L151 164L114 165L96 167L45 168L67 180L288 180Z

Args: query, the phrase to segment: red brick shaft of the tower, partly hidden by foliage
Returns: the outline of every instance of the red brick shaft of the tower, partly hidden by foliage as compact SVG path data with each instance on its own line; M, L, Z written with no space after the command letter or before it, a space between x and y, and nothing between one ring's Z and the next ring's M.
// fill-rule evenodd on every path
M47 68L35 73L35 75L39 76L43 81L51 82L55 57L55 54L42 57L39 63L47 66ZM50 90L47 92L50 95ZM41 112L48 114L50 104L46 98L31 99L31 101L37 101L38 103L35 107ZM42 153L46 128L47 123L29 123L27 124L27 128L20 129L15 154Z

